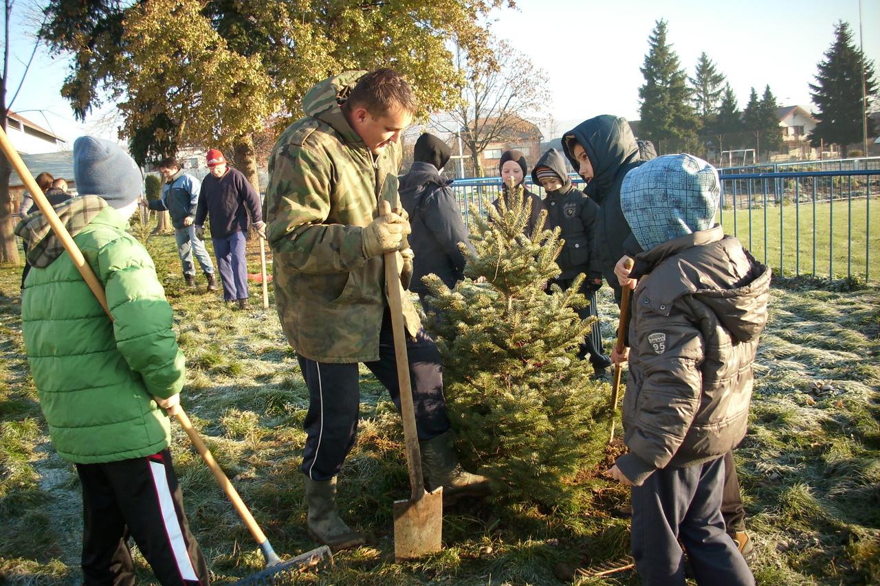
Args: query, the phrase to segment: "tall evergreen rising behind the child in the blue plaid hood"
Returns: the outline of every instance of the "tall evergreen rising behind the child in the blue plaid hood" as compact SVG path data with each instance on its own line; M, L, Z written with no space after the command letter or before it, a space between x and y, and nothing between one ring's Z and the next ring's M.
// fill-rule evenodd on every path
M666 21L656 21L648 45L648 55L641 68L645 84L639 88L642 138L656 143L661 153L691 150L700 122L691 106L687 74L666 41Z

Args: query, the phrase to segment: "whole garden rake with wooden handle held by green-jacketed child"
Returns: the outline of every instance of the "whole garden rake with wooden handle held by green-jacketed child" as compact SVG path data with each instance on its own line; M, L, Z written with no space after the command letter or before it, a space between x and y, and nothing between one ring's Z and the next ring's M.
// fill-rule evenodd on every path
M52 231L55 232L55 236L61 240L64 249L70 255L70 260L73 261L75 267L79 271L80 275L83 275L83 279L86 284L89 286L89 289L92 289L92 293L98 299L101 307L104 308L104 311L107 314L107 317L113 321L113 316L110 314L110 310L107 307L106 295L104 293L104 288L101 286L101 283L98 280L98 277L95 276L92 271L92 267L85 261L83 253L77 247L77 244L73 241L73 238L70 236L70 232L67 231L67 228L58 218L57 214L55 214L55 209L49 204L46 199L46 195L43 194L42 190L39 186L37 186L36 181L34 181L31 172L27 169L24 161L21 160L21 157L18 156L18 150L15 150L12 147L12 144L9 141L9 137L6 136L3 128L0 128L0 149L4 151L6 155L6 159L11 163L12 168L18 172L18 177L22 179L27 187L27 190L31 192L33 195L33 201L36 202L37 207L43 213L43 216L48 220L49 225L52 227ZM238 496L238 491L235 487L232 486L232 483L226 477L223 470L220 468L220 465L216 463L213 455L211 455L208 446L202 442L202 437L199 436L199 433L194 429L192 422L189 421L186 412L183 410L183 407L180 407L177 412L177 421L180 422L180 427L187 432L187 436L189 436L190 441L193 443L195 450L199 452L199 455L202 456L202 459L205 461L205 464L208 465L210 471L214 474L217 482L224 489L224 492L229 497L232 502L233 507L235 507L236 511L238 511L238 515L241 516L242 520L245 522L248 530L251 531L253 538L256 539L257 544L260 546L260 552L262 552L263 557L266 560L266 568L249 576L245 580L241 581L242 583L274 583L276 579L283 579L283 575L290 574L293 572L302 571L304 568L312 568L319 565L319 563L323 560L329 560L331 563L333 561L333 556L330 553L330 548L327 546L321 546L317 549L313 549L310 552L303 553L302 555L297 556L292 560L282 561L278 555L275 553L275 550L272 549L272 545L269 543L268 538L260 530L260 525L257 524L256 520L251 515L251 511L247 509L245 503L241 500L241 497Z

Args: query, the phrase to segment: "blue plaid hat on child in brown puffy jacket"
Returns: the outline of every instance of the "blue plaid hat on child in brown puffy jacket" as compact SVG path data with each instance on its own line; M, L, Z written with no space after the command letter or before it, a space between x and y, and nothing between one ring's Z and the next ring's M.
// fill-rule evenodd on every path
M627 173L620 186L620 209L642 250L648 251L711 228L718 195L715 167L692 155L665 155Z

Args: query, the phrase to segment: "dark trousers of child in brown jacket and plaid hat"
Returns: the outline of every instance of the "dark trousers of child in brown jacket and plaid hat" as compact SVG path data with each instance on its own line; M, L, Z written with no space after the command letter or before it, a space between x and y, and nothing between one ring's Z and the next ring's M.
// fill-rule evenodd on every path
M700 586L753 585L755 579L724 531L724 458L686 468L667 466L632 488L632 551L644 586L684 586L681 547Z

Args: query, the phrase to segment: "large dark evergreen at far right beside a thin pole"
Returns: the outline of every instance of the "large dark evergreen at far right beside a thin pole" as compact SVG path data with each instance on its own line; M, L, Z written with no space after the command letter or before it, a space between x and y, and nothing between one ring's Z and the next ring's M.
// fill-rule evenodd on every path
M810 144L840 144L840 151L846 156L847 144L862 142L862 65L868 99L876 96L877 86L874 65L855 48L847 23L835 25L834 33L837 38L825 59L818 63L816 84L810 84L813 103L818 107L814 114L818 124L810 134ZM868 136L874 134L869 118Z

